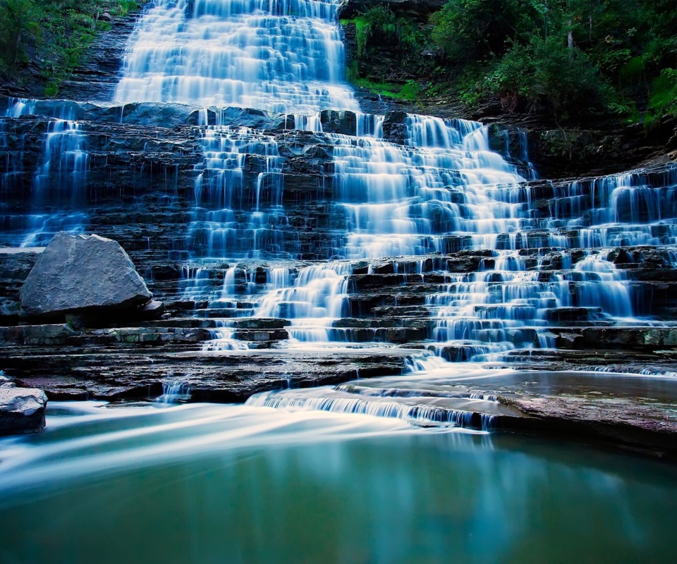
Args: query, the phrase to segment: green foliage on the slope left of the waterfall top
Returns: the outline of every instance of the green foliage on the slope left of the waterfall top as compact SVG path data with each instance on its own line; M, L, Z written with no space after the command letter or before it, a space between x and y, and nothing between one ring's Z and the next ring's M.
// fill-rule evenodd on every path
M30 59L47 80L45 94L82 60L97 33L109 30L102 19L124 16L145 0L0 0L0 71L20 75Z

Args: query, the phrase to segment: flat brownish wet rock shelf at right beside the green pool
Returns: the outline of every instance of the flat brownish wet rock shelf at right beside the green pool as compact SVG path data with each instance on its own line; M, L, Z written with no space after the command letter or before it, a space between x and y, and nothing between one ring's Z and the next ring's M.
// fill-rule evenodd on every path
M494 396L523 416L505 422L498 417L497 427L571 433L677 456L676 376L472 367L467 376L454 368L448 376L439 371L415 379L375 379L362 386L396 390L398 395Z

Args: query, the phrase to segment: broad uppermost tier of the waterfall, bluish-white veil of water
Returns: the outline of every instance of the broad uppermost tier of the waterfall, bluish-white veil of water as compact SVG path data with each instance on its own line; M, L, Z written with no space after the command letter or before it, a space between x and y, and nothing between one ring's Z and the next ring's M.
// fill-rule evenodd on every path
M336 0L159 0L130 39L118 102L358 111Z

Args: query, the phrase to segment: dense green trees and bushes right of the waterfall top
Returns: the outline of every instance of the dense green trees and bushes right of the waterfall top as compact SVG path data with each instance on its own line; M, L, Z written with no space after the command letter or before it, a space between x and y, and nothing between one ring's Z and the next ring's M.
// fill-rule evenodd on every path
M468 104L635 118L645 85L649 109L675 111L673 0L449 0L430 21Z

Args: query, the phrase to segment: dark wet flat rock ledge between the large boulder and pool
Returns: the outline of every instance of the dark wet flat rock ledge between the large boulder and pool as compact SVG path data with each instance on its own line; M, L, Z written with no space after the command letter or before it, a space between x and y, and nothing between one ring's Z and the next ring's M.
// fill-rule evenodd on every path
M395 349L34 352L3 355L0 367L21 385L44 389L50 400L157 398L163 386L181 384L190 388L191 401L221 403L243 402L262 391L402 374L413 353Z

